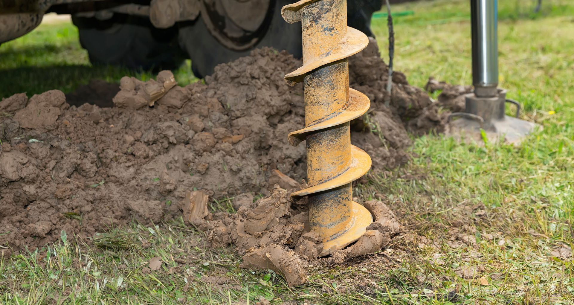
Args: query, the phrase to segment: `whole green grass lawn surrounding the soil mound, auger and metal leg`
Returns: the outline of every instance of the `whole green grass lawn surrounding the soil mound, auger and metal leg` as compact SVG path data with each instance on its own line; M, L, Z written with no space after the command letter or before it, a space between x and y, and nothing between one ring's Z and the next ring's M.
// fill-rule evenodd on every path
M544 0L537 15L534 5L499 1L500 86L522 103L523 119L544 129L519 146L421 137L408 165L370 174L359 196L384 194L406 227L391 250L312 267L308 284L288 288L276 273L239 269L230 249L201 248L203 235L180 222L134 223L96 235L92 247L66 237L44 250L0 258L0 302L573 304L573 258L564 249L574 242L574 3ZM397 70L416 86L428 76L471 83L468 1L393 9L414 11L395 18ZM374 20L373 29L385 50L386 20ZM69 24L41 25L2 44L0 96L69 92L91 78L134 75L91 67L76 36ZM194 81L189 63L176 78ZM162 269L143 273L156 256L165 262ZM228 284L213 285L210 275L226 276ZM363 285L364 279L374 283Z

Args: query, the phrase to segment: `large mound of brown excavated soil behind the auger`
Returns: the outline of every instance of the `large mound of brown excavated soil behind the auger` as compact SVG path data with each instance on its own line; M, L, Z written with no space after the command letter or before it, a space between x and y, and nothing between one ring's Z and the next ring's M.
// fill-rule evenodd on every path
M215 198L269 194L285 180L275 170L301 181L305 146L286 139L304 125L302 86L283 79L300 65L288 53L259 49L219 65L205 84L172 88L153 107L137 104L138 92L164 89L129 78L115 92L122 107L82 105L105 102L104 92L91 98L101 83L83 89L90 96L68 95L81 106L57 90L3 99L0 249L34 249L61 230L87 237L133 218L157 223L180 215L194 189ZM350 67L351 87L372 101L370 114L352 124L352 140L373 157L375 171L408 160L408 131L440 131L437 106L400 73L390 109L383 106L387 67L375 44Z

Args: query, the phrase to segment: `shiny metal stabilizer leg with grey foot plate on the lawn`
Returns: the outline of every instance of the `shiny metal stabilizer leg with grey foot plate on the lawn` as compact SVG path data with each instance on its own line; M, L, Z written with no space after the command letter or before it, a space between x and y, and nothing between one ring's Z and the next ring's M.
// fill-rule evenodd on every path
M495 138L516 143L532 132L534 123L518 119L518 102L506 98L506 90L498 88L498 1L471 0L472 84L474 92L466 96L464 113L450 123L455 133L478 133L484 129ZM506 103L517 105L516 118L505 115Z

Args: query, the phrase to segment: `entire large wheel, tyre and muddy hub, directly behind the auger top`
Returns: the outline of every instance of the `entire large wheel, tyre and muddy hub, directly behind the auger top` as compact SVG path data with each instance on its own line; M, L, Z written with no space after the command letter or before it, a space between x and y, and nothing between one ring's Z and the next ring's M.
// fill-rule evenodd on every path
M212 0L212 3L233 2L236 0ZM249 1L246 1L249 2ZM301 58L301 29L300 26L285 24L281 17L281 7L288 5L289 0L270 0L268 6L260 6L254 18L247 22L245 18L222 16L223 10L211 10L210 14L204 14L202 9L197 20L180 24L180 44L192 60L192 70L197 77L203 77L213 73L216 65L227 63L247 56L254 48L273 47L278 50L286 50L295 57ZM373 13L381 9L381 0L353 0L348 6L348 24L361 30L367 36L373 37L370 30ZM222 7L222 6L211 6ZM244 6L245 7L245 6ZM206 8L207 9L207 8ZM219 13L218 13L219 12ZM252 16L250 11L234 11L239 16ZM219 15L218 15L219 14ZM219 17L218 17L219 16ZM265 18L263 18L265 16ZM211 18L205 20L205 18ZM238 25L228 25L225 22L214 20L232 20ZM214 25L219 25L215 28ZM235 32L228 30L232 28ZM242 38L233 38L241 34ZM250 32L252 31L252 32ZM227 33L227 34L226 34ZM248 39L249 38L249 39Z

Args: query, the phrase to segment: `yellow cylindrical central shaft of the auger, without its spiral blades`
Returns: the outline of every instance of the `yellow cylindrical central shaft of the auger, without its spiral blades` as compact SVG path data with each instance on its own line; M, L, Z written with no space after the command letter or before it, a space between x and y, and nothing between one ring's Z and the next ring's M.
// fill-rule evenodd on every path
M303 59L313 59L335 48L347 34L347 3L326 0L313 3L302 14ZM305 123L336 113L349 101L348 59L324 65L303 80ZM307 136L307 177L311 186L344 172L351 160L349 122ZM352 187L346 184L309 195L309 228L324 238L336 237L351 221Z

